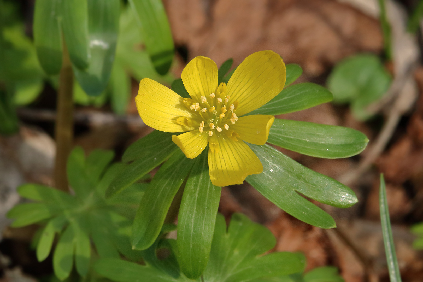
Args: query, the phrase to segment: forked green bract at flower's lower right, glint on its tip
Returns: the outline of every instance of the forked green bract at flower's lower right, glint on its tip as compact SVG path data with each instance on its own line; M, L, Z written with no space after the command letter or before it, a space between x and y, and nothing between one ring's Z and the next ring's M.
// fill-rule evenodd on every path
M355 193L338 181L302 166L269 145L249 146L263 164L263 172L248 176L247 182L297 219L321 228L336 226L329 214L300 194L339 208L357 203Z

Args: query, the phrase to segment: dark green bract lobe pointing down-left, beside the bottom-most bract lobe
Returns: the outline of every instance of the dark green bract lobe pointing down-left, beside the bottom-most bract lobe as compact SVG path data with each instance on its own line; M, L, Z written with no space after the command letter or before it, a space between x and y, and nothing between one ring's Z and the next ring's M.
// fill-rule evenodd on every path
M132 226L133 249L147 249L162 229L173 197L191 170L194 160L187 159L182 151L176 151L151 180L141 199Z

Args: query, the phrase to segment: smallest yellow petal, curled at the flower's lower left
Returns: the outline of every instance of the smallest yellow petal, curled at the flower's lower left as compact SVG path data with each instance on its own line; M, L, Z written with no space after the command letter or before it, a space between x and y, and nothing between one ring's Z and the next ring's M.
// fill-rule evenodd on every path
M172 141L182 152L187 156L188 159L194 159L196 156L206 148L209 140L209 134L207 132L200 133L198 129L185 132L181 135L172 135Z

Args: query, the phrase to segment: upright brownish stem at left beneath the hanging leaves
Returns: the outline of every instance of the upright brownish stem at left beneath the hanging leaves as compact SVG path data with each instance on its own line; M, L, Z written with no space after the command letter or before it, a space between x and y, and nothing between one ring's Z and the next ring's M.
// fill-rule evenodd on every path
M55 184L62 191L69 191L66 176L66 162L72 148L73 111L72 100L73 72L66 45L63 44L63 64L59 76L59 92L57 99L57 117L55 126L56 162Z

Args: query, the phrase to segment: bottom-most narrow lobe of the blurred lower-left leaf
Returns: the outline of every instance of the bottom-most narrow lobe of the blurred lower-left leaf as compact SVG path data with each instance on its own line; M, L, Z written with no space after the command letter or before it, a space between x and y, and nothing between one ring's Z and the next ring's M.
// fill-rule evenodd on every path
M53 255L54 273L60 280L64 280L71 274L74 261L74 229L71 225L66 227L60 236Z

